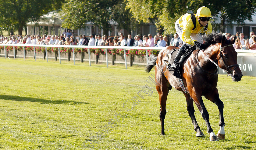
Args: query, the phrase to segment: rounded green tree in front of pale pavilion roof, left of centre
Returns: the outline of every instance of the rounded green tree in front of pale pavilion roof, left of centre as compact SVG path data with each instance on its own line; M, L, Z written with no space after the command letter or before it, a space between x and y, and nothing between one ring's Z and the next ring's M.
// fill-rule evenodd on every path
M87 22L98 26L104 31L111 30L110 21L115 21L120 28L132 29L134 19L131 19L126 4L118 0L66 0L62 6L63 27L80 29L86 28Z

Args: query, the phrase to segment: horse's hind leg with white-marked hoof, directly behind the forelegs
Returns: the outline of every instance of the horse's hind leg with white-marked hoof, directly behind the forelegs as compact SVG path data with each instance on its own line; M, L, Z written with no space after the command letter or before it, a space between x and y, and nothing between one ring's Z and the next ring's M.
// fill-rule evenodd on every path
M204 136L203 132L201 131L199 125L197 124L197 120L196 120L196 117L195 117L195 109L194 109L194 101L193 99L190 97L190 95L184 93L185 97L186 97L186 101L187 101L187 111L188 111L188 114L191 118L191 121L194 125L194 129L195 131L197 132L196 136L197 137L201 137L201 136Z

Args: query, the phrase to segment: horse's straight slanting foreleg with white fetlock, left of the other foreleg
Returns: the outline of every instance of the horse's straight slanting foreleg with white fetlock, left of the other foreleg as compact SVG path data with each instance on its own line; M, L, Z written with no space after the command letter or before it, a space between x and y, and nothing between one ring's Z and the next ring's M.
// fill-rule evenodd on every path
M203 102L203 99L201 97L201 92L191 91L190 93L191 93L191 97L193 98L195 104L197 105L197 108L201 112L201 115L202 115L202 117L203 117L203 119L204 119L204 121L206 123L207 132L210 135L210 141L219 141L219 139L214 134L214 132L212 130L212 127L210 125L209 113L208 113L208 111L206 110L206 108L204 106L204 102Z

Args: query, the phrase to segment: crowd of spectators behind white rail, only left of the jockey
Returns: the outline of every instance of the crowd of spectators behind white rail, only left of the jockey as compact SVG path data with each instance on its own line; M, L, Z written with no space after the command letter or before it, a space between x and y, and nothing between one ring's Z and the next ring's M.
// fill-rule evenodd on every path
M176 34L177 35L177 34ZM178 38L180 39L180 38ZM174 45L177 41L175 36L170 45ZM179 40L180 42L181 40ZM17 35L10 35L4 37L0 35L0 44L45 44L45 45L90 45L90 46L146 46L146 47L165 47L168 44L168 38L162 36L160 33L152 37L151 34L148 36L135 35L134 38L129 34L127 37L123 33L119 33L119 36L108 37L107 35L89 35L89 39L86 35L79 35L79 39L76 39L73 32L66 30L61 36L57 35L26 35L24 37ZM182 45L182 41L180 42ZM179 46L179 45L178 45Z

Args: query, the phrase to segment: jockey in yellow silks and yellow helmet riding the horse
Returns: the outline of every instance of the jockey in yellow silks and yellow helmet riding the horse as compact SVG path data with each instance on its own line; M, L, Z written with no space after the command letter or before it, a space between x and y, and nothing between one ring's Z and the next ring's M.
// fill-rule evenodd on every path
M197 9L196 14L186 13L175 22L176 32L181 37L183 45L170 67L172 70L175 70L179 64L181 56L187 56L192 51L192 46L197 46L200 49L204 48L204 42L200 33L207 34L212 32L212 25L209 22L210 18L210 9L203 6Z

